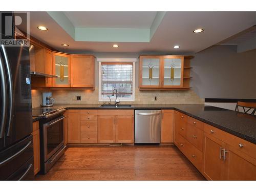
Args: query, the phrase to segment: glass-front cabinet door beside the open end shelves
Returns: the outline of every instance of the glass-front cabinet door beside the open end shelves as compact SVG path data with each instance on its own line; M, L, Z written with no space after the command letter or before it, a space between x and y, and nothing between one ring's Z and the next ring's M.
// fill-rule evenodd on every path
M163 57L163 87L182 87L183 57Z

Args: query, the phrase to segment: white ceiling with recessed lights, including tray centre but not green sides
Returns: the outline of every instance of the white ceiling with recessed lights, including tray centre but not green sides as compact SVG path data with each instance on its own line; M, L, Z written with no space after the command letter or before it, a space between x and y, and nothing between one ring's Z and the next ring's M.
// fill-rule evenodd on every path
M65 12L76 27L148 27L156 12ZM138 16L148 14L147 16ZM125 16L126 15L126 16ZM90 19L85 19L89 17ZM147 18L145 18L147 17ZM106 19L110 18L110 19ZM137 18L137 19L136 19ZM140 19L139 19L140 18ZM102 19L102 21L101 21ZM103 22L104 21L104 22ZM75 41L47 12L30 13L30 34L53 48L64 52L162 52L196 53L256 24L256 12L167 12L150 42L88 42ZM45 25L48 31L36 26ZM203 28L195 34L193 30ZM70 47L62 47L61 44ZM119 48L112 47L118 44ZM180 45L175 50L174 45Z

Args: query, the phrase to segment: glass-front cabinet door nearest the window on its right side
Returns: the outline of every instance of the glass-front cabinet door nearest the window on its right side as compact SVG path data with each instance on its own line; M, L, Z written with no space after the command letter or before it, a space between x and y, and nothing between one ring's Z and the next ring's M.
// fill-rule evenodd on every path
M140 57L140 87L160 87L161 57L141 56Z

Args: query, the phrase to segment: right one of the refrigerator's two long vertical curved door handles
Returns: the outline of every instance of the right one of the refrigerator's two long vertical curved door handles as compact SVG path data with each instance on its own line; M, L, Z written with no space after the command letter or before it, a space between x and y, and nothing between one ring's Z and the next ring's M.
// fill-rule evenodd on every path
M4 53L4 59L5 59L5 63L6 63L6 70L7 70L7 77L8 77L8 90L9 90L9 93L8 93L8 96L9 96L9 119L8 119L8 122L7 122L7 136L10 136L10 132L11 132L11 123L12 123L12 115L13 115L13 82L12 82L12 73L11 73L11 67L10 67L10 64L9 64L9 61L8 61L8 57L7 57L7 53L6 53L6 50L5 50L5 46L4 45L1 45L1 48L3 50L3 53Z

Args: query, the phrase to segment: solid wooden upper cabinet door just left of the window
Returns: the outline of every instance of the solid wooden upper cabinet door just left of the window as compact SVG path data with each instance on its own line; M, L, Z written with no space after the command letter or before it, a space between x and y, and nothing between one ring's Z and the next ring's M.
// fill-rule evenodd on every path
M95 57L71 55L71 87L94 88Z

